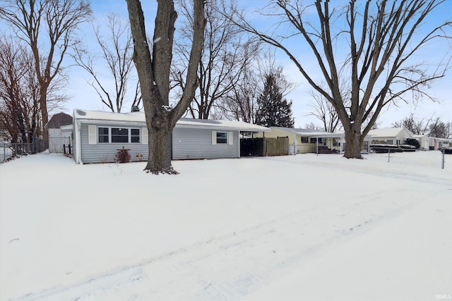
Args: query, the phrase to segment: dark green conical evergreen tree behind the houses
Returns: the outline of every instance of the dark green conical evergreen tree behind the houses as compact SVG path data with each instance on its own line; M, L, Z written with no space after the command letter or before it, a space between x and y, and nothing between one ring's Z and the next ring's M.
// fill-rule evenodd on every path
M283 99L283 91L274 74L266 75L263 92L257 99L256 124L293 128L292 102Z

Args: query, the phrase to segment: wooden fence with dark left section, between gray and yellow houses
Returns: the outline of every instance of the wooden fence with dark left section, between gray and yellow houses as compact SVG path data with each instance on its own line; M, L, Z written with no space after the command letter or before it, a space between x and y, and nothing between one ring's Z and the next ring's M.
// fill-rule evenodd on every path
M240 156L285 156L289 154L289 138L252 138L240 140Z

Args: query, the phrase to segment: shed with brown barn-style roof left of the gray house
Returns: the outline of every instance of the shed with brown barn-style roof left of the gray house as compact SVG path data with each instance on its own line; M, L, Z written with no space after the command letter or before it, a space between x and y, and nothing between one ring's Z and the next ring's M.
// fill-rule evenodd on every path
M57 113L44 125L49 131L49 152L63 153L63 145L71 144L71 133L61 130L61 126L71 125L72 116L66 113Z

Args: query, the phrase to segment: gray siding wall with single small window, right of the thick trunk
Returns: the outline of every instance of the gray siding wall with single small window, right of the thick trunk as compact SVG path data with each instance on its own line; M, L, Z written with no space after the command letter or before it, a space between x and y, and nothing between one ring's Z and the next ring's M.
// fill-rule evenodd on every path
M217 131L232 133L232 145L213 145L212 130L210 129L174 128L172 131L172 159L239 158L239 131Z

